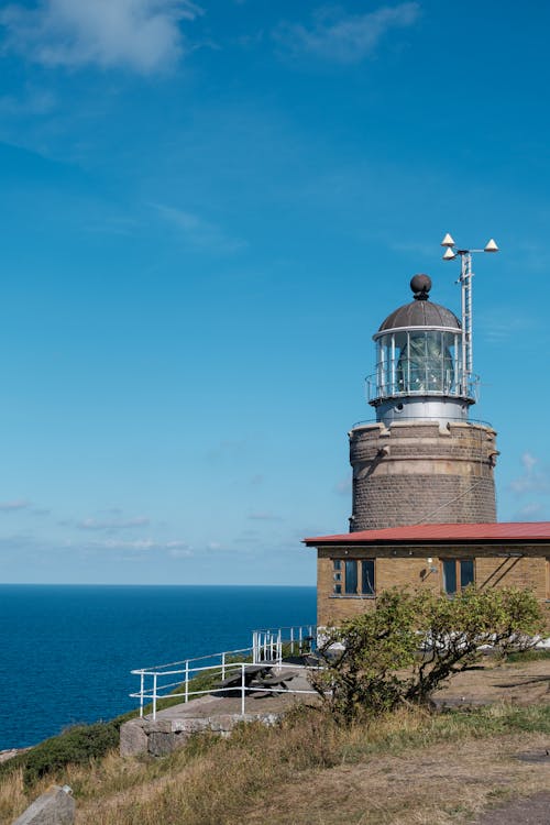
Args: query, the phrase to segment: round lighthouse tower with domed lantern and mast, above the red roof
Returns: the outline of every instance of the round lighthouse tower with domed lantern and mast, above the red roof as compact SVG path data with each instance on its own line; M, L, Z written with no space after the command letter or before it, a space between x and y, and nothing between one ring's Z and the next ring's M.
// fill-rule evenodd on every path
M496 521L496 432L470 419L475 404L471 253L455 251L447 239L444 257L460 255L462 262L462 320L430 299L428 275L415 275L413 300L374 334L376 365L367 386L376 420L349 433L351 532ZM484 251L496 249L492 241Z

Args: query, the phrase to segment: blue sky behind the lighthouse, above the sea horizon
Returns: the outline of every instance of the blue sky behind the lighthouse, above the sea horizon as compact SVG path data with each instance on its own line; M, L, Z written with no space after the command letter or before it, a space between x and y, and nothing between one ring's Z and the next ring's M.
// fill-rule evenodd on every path
M314 584L372 333L459 310L501 520L550 519L550 7L0 7L7 582Z

